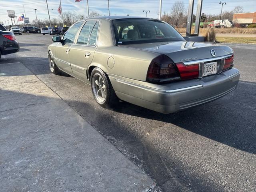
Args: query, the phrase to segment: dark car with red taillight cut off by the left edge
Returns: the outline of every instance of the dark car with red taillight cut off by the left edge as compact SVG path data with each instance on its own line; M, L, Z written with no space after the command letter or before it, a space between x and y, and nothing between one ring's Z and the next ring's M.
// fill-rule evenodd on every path
M16 53L20 50L19 43L16 41L14 33L0 24L0 58L2 55Z

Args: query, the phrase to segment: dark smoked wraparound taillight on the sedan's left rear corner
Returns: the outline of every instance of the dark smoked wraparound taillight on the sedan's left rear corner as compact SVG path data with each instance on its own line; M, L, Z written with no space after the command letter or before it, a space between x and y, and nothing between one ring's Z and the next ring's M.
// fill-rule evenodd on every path
M174 62L168 56L160 55L151 61L146 80L151 83L163 83L180 80L180 76Z

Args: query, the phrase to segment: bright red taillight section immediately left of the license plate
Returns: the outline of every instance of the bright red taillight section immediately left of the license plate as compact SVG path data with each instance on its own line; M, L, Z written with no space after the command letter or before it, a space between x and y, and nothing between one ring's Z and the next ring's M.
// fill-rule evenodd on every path
M184 63L176 63L178 70L180 72L180 77L182 80L198 78L199 75L199 65L184 65Z

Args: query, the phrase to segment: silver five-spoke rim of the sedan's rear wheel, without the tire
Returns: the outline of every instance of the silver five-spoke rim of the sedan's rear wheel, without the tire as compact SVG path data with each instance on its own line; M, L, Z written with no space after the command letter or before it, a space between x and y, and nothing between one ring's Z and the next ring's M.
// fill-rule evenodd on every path
M102 76L98 73L92 77L93 94L98 102L106 100L106 86Z

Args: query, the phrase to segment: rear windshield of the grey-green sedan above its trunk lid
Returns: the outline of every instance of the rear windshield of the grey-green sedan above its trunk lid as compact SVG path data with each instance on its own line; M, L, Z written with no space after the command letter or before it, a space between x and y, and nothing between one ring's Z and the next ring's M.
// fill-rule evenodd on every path
M184 41L168 23L155 19L113 20L116 44Z

